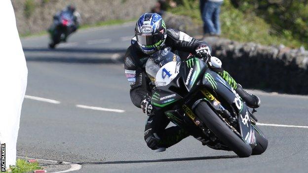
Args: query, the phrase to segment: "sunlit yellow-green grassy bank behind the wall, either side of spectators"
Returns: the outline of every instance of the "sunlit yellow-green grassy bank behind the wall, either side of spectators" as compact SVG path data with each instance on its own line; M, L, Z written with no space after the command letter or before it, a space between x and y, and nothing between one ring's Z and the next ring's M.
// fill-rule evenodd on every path
M178 0L176 8L169 8L169 11L178 15L186 15L192 17L193 21L202 25L199 0ZM184 5L187 1L190 8ZM260 15L259 3L263 4L267 0L239 0L238 7L233 3L236 0L224 0L221 9L221 26L222 36L237 40L240 42L257 42L265 45L284 44L289 47L300 47L308 44L306 41L297 39L293 32L287 27L278 27L279 25L265 19L265 16ZM232 3L231 3L232 2ZM275 9L269 9L269 12L275 13ZM274 17L274 16L273 16ZM302 27L305 20L298 19L298 25ZM307 32L308 33L308 32Z

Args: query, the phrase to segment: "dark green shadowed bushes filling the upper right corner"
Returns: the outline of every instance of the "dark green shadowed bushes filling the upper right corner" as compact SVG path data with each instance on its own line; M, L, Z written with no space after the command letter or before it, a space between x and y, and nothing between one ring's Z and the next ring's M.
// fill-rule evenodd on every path
M297 39L307 47L308 0L231 0L244 13L254 10L276 35ZM245 5L246 4L246 5ZM243 6L247 6L243 8Z

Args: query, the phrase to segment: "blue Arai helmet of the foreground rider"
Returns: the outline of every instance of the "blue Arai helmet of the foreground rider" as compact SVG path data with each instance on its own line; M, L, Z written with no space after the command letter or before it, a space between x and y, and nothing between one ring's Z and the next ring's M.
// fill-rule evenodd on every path
M160 50L167 37L167 29L162 17L157 13L143 14L135 28L140 49L148 55Z

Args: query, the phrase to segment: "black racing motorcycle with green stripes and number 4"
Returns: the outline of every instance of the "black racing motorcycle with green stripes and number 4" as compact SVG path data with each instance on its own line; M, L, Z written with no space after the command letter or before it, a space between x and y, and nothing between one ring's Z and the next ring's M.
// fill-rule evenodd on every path
M208 62L209 61L209 62ZM154 89L151 103L175 125L217 150L249 157L265 152L268 140L250 110L218 73L210 58L192 54L182 61L170 47L155 52L146 63Z

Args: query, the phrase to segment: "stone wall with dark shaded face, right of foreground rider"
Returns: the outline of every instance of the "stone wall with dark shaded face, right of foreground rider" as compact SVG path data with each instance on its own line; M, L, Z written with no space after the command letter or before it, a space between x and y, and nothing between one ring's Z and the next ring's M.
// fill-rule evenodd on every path
M205 39L212 55L244 87L270 91L308 94L308 51L284 46L262 46L228 39Z

